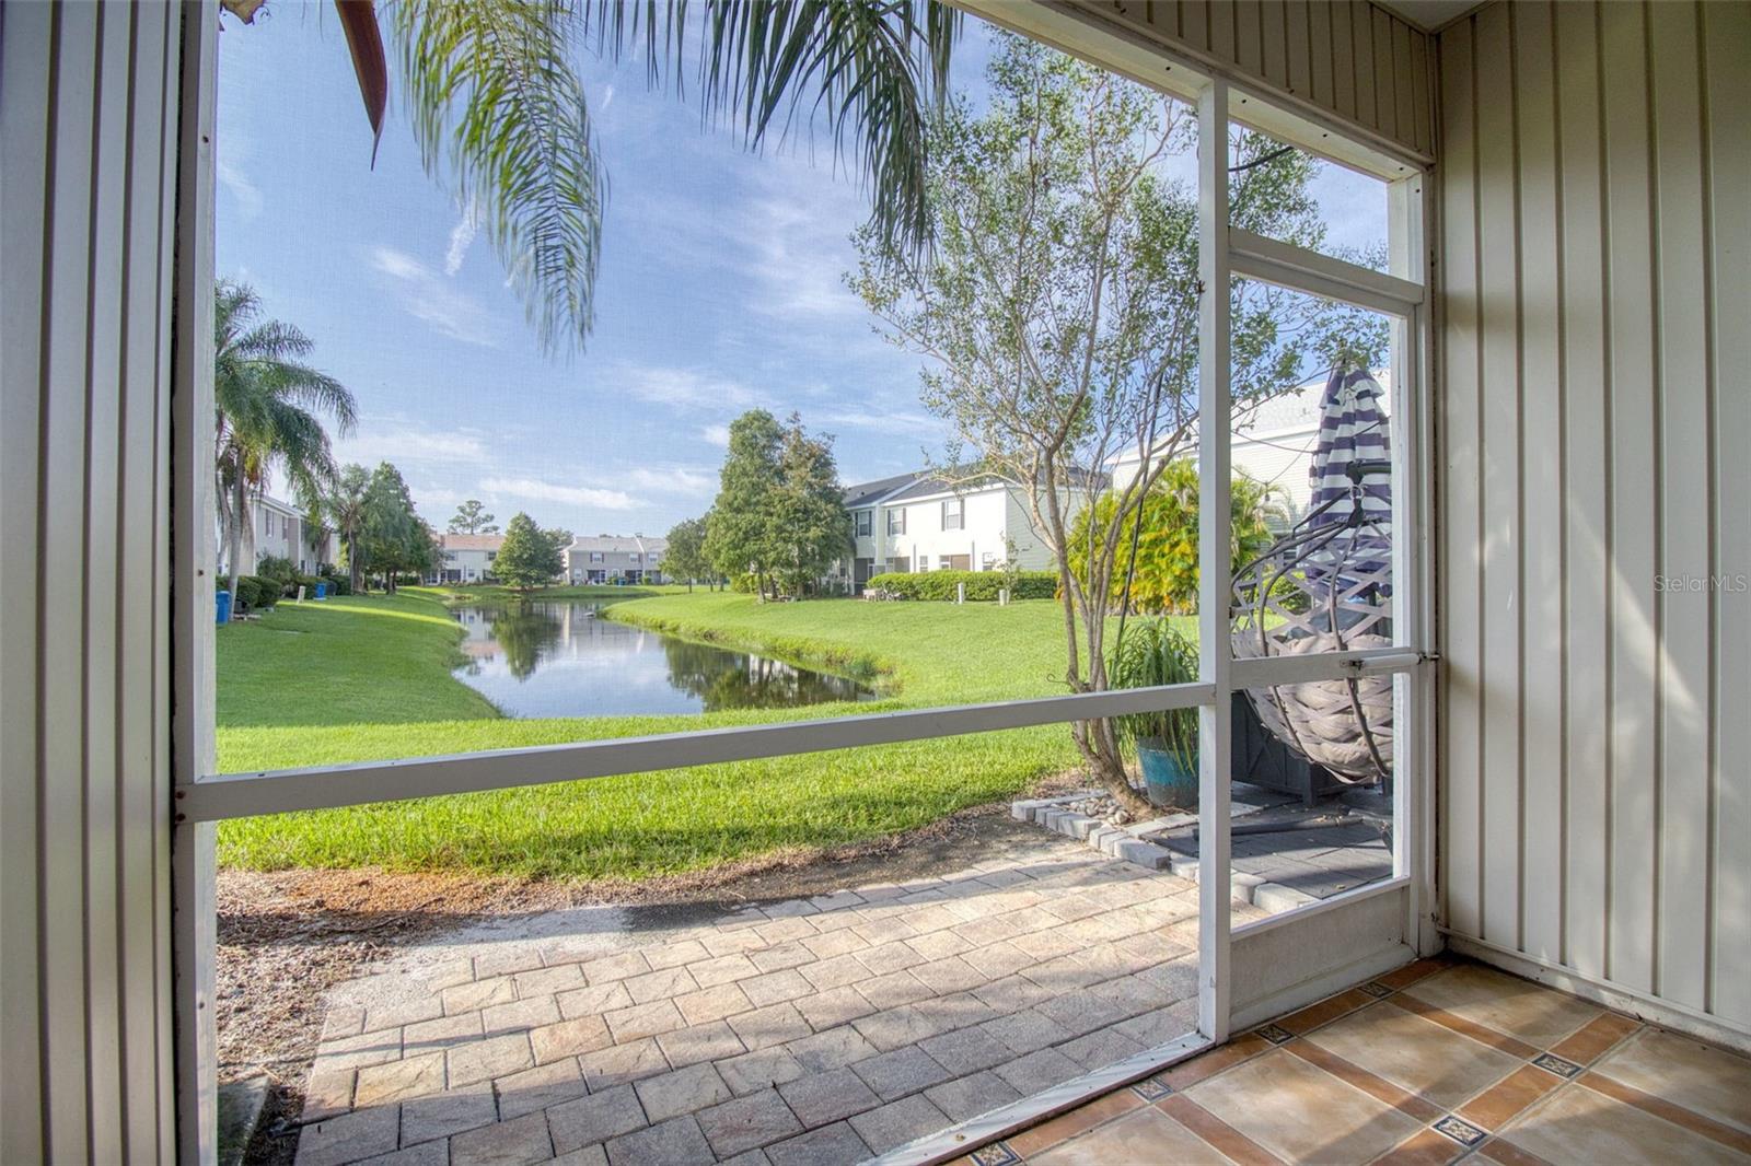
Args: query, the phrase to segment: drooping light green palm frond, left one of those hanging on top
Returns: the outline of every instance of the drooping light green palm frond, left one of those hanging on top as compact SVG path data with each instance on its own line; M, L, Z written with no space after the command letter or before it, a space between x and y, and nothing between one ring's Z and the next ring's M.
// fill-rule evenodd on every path
M404 0L390 12L427 173L478 208L546 352L594 320L608 179L571 68L567 0Z

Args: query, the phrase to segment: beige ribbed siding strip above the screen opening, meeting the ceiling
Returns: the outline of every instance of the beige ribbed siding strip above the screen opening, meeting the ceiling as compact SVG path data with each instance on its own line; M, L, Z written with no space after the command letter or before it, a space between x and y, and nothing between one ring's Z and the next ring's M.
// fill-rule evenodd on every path
M1086 0L1168 42L1422 156L1434 152L1429 33L1368 0Z

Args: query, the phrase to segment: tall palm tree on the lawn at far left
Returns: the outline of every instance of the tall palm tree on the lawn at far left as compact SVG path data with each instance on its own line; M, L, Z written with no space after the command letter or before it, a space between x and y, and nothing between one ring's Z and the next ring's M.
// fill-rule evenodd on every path
M282 466L308 508L334 478L329 438L312 410L333 413L345 436L357 404L338 380L303 362L315 347L308 336L261 319L261 299L249 285L219 280L214 299L214 462L235 595L243 532L254 532L249 502L261 497L268 471Z

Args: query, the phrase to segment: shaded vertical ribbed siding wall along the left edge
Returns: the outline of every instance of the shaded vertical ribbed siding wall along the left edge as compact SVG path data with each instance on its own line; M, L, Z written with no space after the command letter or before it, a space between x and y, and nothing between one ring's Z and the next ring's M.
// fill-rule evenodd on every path
M0 21L0 1159L163 1161L179 11Z

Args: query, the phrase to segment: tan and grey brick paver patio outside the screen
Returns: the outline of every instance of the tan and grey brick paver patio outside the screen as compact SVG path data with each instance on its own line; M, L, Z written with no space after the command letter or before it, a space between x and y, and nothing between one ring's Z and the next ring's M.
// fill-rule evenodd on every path
M854 1162L1196 1019L1194 884L1045 835L685 926L504 931L336 986L299 1166Z

